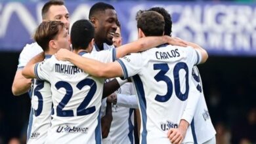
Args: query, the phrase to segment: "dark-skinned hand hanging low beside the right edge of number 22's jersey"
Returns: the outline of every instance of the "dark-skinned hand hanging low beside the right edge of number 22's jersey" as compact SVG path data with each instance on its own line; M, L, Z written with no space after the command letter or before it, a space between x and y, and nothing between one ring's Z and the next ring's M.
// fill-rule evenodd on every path
M110 133L110 126L111 122L113 120L112 115L105 115L101 118L101 130L102 130L102 138L108 137L108 134Z

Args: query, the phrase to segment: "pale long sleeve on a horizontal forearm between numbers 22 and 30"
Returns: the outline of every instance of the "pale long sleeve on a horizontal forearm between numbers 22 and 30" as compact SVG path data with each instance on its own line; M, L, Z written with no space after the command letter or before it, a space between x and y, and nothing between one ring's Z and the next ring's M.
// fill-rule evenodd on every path
M116 105L121 107L129 107L132 109L139 109L137 97L135 95L117 94Z

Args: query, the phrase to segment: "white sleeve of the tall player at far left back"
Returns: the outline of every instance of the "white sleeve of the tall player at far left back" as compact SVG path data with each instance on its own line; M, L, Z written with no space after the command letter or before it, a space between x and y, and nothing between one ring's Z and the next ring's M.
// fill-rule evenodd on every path
M20 57L18 58L18 69L22 69L26 64L37 54L43 52L42 48L37 43L27 44L24 46Z

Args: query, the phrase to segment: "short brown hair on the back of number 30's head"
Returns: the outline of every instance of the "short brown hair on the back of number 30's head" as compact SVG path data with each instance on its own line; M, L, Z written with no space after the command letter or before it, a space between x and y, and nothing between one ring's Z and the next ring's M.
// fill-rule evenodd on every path
M160 36L164 32L165 21L158 12L142 12L138 16L137 27L143 31L145 36Z

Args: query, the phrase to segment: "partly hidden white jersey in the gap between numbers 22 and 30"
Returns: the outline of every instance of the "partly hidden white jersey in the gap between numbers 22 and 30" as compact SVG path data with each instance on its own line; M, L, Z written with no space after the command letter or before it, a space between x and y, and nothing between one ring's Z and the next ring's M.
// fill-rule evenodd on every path
M117 99L120 94L129 98L134 95L133 85L131 82L123 84L116 90ZM134 98L134 97L133 97ZM119 143L135 143L134 140L134 113L135 109L129 107L121 107L112 104L113 120L110 127L110 136L113 144Z

